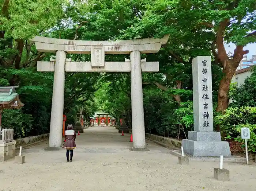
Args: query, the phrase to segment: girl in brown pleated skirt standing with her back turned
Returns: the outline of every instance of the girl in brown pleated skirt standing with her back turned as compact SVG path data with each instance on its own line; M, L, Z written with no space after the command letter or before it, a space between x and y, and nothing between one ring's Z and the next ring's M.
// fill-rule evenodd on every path
M72 162L73 149L76 148L76 132L73 130L73 126L68 124L68 130L65 130L65 143L62 145L63 148L67 149L66 156L67 162ZM69 160L69 151L70 151L70 160Z

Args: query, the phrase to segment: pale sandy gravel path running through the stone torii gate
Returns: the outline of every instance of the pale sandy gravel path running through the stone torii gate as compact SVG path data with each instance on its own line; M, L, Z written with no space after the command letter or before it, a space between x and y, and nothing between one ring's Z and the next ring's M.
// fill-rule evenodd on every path
M237 191L256 189L256 166L224 163L229 182L213 178L214 162L179 165L166 148L147 141L149 152L129 151L129 135L113 127L90 127L77 136L74 161L48 143L25 149L24 164L0 163L0 191Z

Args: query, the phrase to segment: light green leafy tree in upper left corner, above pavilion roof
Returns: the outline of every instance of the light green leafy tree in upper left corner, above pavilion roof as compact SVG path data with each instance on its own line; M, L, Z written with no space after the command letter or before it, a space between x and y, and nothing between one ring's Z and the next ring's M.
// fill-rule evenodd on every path
M49 30L63 17L61 0L1 0L0 1L0 66L20 69L23 47L26 46L25 65L31 56L38 61L42 54L36 54L27 40ZM32 59L33 60L33 59Z

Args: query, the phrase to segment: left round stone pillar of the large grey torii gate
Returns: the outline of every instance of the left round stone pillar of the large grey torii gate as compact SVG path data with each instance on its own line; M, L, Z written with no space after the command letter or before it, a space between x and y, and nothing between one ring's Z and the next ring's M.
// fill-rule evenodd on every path
M62 143L65 61L66 53L63 50L58 50L56 52L54 69L49 147L46 150L60 149Z

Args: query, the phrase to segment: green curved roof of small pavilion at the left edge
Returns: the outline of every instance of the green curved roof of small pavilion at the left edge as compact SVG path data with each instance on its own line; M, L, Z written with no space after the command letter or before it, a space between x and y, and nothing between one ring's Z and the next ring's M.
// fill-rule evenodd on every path
M1 108L19 108L24 104L19 100L19 95L16 93L15 87L18 86L5 86L0 87L0 107ZM14 105L14 101L17 101L17 105ZM13 105L13 106L10 106Z

